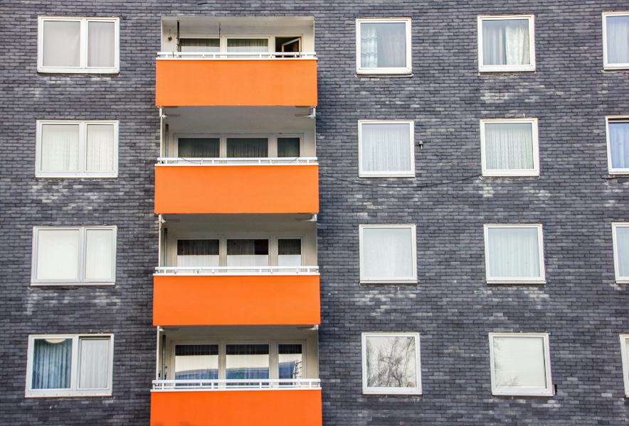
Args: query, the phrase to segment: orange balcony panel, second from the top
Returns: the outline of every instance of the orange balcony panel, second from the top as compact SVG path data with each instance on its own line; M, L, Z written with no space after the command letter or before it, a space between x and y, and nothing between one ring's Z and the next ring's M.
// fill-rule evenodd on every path
M319 212L318 165L157 165L155 213Z

